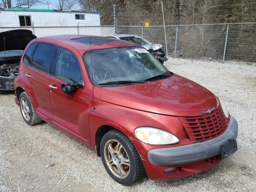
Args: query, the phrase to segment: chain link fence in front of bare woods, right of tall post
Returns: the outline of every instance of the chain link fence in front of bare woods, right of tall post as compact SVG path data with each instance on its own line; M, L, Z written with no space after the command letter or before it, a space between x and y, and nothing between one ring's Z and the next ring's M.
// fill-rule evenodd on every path
M256 62L256 23L165 26L118 26L119 34L136 34L162 44L168 56ZM226 44L226 48L225 48Z

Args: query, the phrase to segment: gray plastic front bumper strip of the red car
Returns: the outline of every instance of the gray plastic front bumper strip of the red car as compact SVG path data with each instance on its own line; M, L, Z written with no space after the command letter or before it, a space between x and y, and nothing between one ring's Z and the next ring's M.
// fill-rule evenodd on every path
M148 151L148 159L151 164L157 166L180 165L204 160L221 154L220 146L229 140L236 139L237 133L237 121L230 116L228 128L220 136L190 145L152 149Z

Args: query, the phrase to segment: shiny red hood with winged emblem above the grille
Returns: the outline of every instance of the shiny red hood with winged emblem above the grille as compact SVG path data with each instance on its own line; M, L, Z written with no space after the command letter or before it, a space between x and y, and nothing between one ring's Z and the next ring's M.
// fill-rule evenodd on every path
M94 87L94 98L146 112L171 116L202 116L217 108L216 96L203 86L179 75L149 83Z

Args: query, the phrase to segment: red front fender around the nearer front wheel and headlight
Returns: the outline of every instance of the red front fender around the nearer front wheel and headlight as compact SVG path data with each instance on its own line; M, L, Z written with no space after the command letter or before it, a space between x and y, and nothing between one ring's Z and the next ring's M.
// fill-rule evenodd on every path
M96 146L98 128L103 125L112 126L125 134L144 161L148 161L146 154L150 149L168 147L168 145L150 145L141 142L134 135L134 129L137 127L150 126L171 132L179 138L180 143L169 145L170 147L191 144L178 117L135 110L96 99L94 99L94 104L95 110L89 116L92 148Z

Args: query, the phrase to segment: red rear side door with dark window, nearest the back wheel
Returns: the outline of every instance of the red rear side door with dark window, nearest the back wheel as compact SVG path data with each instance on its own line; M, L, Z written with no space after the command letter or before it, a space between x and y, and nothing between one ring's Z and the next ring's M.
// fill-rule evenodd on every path
M50 74L56 58L57 46L46 43L38 43L32 62L26 68L26 77L30 82L29 95L32 96L32 104L36 113L46 121L52 119L52 108L49 96ZM26 59L26 58L24 58Z

